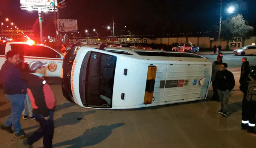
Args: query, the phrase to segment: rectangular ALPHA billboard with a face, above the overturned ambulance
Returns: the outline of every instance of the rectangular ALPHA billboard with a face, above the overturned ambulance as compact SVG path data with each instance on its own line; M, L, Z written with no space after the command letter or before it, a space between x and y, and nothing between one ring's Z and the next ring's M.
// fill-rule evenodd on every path
M57 19L58 32L77 32L77 20Z

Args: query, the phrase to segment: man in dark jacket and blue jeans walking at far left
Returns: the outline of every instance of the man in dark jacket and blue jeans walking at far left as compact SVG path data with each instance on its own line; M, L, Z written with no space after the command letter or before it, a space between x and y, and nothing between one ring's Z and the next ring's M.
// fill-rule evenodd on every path
M6 99L11 104L11 114L4 124L1 124L2 130L13 133L15 138L26 138L27 134L22 130L20 116L24 109L24 101L27 93L27 85L20 78L21 73L16 67L19 62L19 53L17 51L8 51L6 61L1 68L1 81L4 87Z

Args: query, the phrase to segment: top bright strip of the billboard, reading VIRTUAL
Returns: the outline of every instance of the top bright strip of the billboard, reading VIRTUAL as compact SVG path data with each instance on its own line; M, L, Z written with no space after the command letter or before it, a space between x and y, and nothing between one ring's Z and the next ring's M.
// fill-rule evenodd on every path
M21 5L30 5L30 6L54 6L54 1L53 0L20 0ZM55 0L55 6L58 5L57 0Z

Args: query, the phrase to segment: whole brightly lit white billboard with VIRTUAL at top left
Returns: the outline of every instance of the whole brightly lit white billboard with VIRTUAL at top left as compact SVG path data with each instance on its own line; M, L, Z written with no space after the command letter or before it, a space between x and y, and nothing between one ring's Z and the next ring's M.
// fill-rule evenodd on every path
M23 10L38 10L41 8L44 11L54 11L55 6L58 6L57 0L20 0L20 6Z

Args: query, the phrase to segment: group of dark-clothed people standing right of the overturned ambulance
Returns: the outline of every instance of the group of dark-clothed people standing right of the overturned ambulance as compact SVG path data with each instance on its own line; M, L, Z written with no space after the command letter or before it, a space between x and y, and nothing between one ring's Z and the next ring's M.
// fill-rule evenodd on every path
M235 79L233 73L227 70L228 64L222 62L222 58L222 53L219 53L217 60L214 61L212 65L212 100L220 101L220 111L218 111L218 113L224 117L227 117L230 115L228 100L230 97L230 91L235 86ZM250 92L249 89L252 88L252 91L256 91L256 85L254 86L254 83L256 83L255 73L256 66L252 66L250 69L250 64L247 61L247 58L243 57L239 79L240 90L242 93L244 93L242 100L241 129L247 130L247 132L254 134L256 134L256 99L254 100L253 96L256 96L256 92ZM251 85L251 87L248 87L249 85ZM248 97L249 95L250 97Z

